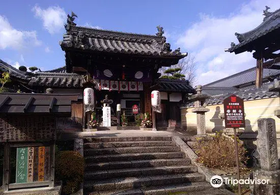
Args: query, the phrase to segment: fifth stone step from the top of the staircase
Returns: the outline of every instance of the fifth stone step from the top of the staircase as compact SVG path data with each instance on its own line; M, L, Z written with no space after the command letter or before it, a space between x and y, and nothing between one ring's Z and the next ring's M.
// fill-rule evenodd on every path
M85 171L148 168L154 166L189 165L189 164L190 164L189 158L169 158L169 159L163 158L163 159L150 159L150 160L97 162L97 163L87 163L85 166Z

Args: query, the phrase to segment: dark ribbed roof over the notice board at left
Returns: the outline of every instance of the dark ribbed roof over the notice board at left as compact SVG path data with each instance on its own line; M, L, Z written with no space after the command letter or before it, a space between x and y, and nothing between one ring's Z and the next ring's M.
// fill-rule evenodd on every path
M49 113L70 114L71 101L77 101L79 94L0 94L0 113Z

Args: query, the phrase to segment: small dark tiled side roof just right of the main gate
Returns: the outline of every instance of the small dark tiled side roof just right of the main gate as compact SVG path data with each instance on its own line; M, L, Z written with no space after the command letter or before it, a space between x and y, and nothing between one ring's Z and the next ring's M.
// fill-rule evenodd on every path
M195 90L189 86L189 82L185 80L158 79L154 89L164 92L195 93Z

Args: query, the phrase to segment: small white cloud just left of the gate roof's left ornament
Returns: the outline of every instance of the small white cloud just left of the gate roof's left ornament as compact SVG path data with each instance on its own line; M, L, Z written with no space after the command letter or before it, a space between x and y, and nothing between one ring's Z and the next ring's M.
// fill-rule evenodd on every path
M66 13L64 9L59 6L51 6L47 9L42 9L36 5L33 7L32 11L35 12L36 17L43 20L43 26L50 34L59 33L64 27Z

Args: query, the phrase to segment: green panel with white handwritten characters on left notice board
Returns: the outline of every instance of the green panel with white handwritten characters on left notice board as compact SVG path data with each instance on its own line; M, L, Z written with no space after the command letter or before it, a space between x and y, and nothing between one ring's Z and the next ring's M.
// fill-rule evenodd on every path
M27 182L28 148L17 148L16 151L16 183L25 183Z

